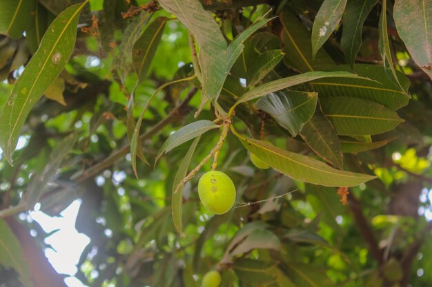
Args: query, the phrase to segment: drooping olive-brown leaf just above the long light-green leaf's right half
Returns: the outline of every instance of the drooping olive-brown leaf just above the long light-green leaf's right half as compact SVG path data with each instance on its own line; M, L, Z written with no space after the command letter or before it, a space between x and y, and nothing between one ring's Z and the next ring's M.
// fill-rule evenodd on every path
M339 138L330 120L320 109L303 127L300 134L306 144L321 158L342 169L343 156Z

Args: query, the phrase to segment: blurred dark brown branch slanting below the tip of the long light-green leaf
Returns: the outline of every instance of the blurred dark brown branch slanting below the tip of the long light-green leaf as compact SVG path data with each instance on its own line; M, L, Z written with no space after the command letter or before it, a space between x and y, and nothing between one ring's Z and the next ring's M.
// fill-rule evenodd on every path
M348 195L348 200L351 205L351 211L353 212L355 224L357 224L360 234L362 235L364 241L368 244L369 251L371 252L373 258L380 266L382 266L384 264L384 253L378 245L372 227L369 225L368 220L363 214L360 200L355 198L352 193Z

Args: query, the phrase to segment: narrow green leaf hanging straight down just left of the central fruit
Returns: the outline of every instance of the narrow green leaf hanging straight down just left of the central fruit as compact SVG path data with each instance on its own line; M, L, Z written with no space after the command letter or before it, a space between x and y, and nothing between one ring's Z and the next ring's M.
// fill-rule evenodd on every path
M195 153L195 149L197 148L199 138L201 136L198 136L195 138L195 140L192 142L192 145L190 145L188 152L186 153L186 156L184 156L183 160L181 160L180 167L177 170L177 173L175 174L175 179L173 183L173 199L171 200L171 214L173 215L173 222L175 229L177 229L178 233L181 235L181 237L184 237L183 231L181 231L183 222L181 221L181 204L183 201L183 187L177 191L177 193L174 193L177 185L186 178L186 174L188 172L188 167L190 164L190 160L192 160L193 153Z

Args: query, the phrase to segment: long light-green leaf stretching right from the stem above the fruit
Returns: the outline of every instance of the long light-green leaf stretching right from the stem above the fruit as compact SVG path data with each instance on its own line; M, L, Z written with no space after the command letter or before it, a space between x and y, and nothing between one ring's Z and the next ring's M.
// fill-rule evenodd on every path
M295 180L327 187L355 187L375 178L375 176L362 173L333 169L324 162L279 149L262 140L251 138L240 138L240 140L244 147L254 153L257 158Z

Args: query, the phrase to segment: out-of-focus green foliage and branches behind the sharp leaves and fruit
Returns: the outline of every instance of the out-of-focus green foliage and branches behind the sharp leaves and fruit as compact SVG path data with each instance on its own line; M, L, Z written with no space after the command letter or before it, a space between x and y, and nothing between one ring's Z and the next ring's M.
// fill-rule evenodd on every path
M75 2L37 1L37 13L43 17L38 28L48 27L59 12ZM95 15L97 29L79 30L72 57L59 77L60 84L46 93L26 120L13 154L14 167L4 157L0 162L0 203L6 210L19 204L23 194L36 184L35 178L52 165L55 159L50 158L50 153L59 145L67 144L66 136L77 133L77 144L59 162L60 168L54 171L49 182L37 186L43 193L38 203L28 209L59 216L75 200L81 202L75 227L90 238L75 274L82 284L193 287L200 286L208 270L218 268L222 286L430 286L432 83L409 56L393 19L389 19L389 39L395 68L411 83L411 99L397 111L405 122L385 134L356 138L366 143L384 140L383 147L344 153L346 169L374 174L378 179L349 189L348 202L342 204L335 188L304 184L273 169L257 169L251 164L246 149L230 135L219 154L218 169L235 182L235 208L226 215L215 216L199 203L197 179L210 169L210 164L206 164L183 191L185 237L182 238L173 226L171 193L179 162L190 142L161 157L155 167L153 162L173 131L195 120L213 119L213 107L206 105L195 119L193 115L201 103L201 94L190 84L172 85L157 94L141 126L141 134L145 135L143 151L150 165L139 161L139 178L135 178L127 148L126 107L137 74L130 62L126 63L130 61L128 56L121 59L124 57L122 43L128 37L125 32L128 27L147 12L140 11L126 18L121 13L149 3L105 0L101 1L103 9L99 10L95 9L98 1L90 2L94 10L84 8L79 25L91 27ZM281 23L281 17L274 19L246 41L248 52L244 55L248 58L244 63L251 64L253 69L253 63L259 63L257 57L264 51L277 50L284 56L256 78L257 83L306 72L300 58L290 56L284 25L310 33L323 1L202 2L214 12L228 41L268 11L271 16L291 13L287 16L293 17L290 23ZM430 1L424 2L431 5ZM363 41L357 63L383 65L377 43L382 3L375 3L363 28L360 26ZM387 5L392 7L393 1ZM170 20L164 27L148 76L135 90L135 118L157 87L183 78L193 70L188 31L181 22L171 19L172 15L156 7L153 19L168 17ZM352 20L344 19L331 34L324 50L311 60L314 67L321 65L320 57L344 64L341 37L345 21ZM141 30L145 28L143 25ZM310 51L310 34L306 36L308 41L297 44L304 45L299 46L300 50ZM35 37L32 28L19 39L1 36L1 106L5 105L23 65L37 49ZM259 41L264 41L262 50L254 41L260 45ZM253 45L251 50L247 50L248 44ZM324 53L326 56L322 56ZM123 79L119 79L121 69L116 64L119 59L127 64L121 67L126 69ZM250 80L255 74L247 74L239 61L230 76L234 79L233 87L228 89L242 92L244 87L239 84L239 78ZM305 88L313 89L308 84ZM229 107L235 98L224 91L219 103ZM259 136L262 112L244 105L237 110L237 116L244 121L237 123L237 129L244 131L248 127L253 136ZM291 137L268 116L264 123L266 140L283 149L314 156L302 136ZM66 141L62 142L64 138ZM190 167L199 164L218 138L218 129L202 136ZM18 264L24 266L23 270L11 268L13 264L8 266L2 262L6 250L0 248L3 265L0 286L28 284L22 278L26 272L35 286L62 286L63 275L57 275L41 253L50 248L46 238L55 231L46 233L25 210L17 217L4 214L2 217L21 243L21 246L11 245L10 250L22 253L25 260ZM8 227L0 225L0 231L2 228L6 234ZM72 246L74 242L66 244ZM35 279L38 272L46 278Z

